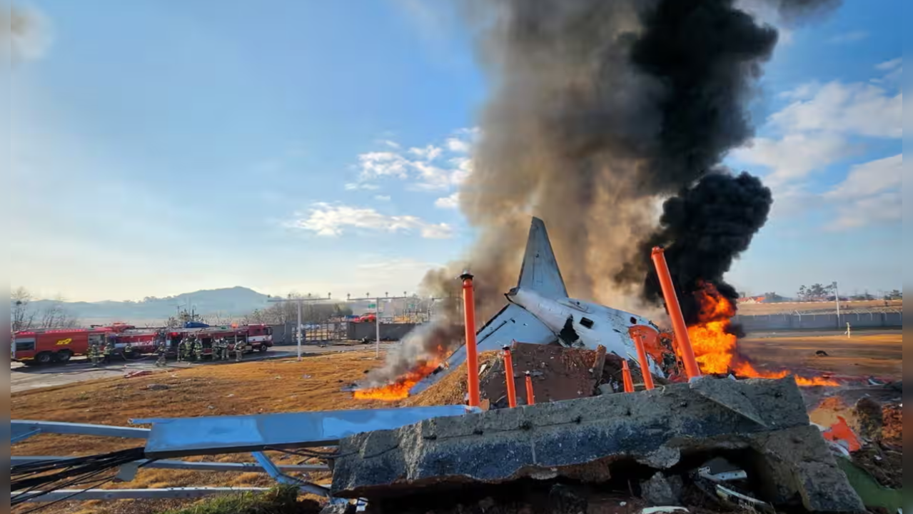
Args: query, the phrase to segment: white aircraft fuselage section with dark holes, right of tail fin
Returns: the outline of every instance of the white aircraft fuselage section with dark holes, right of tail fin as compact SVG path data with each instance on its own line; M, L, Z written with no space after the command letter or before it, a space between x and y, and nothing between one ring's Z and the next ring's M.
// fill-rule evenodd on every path
M625 359L637 360L637 349L628 332L629 327L642 325L656 330L656 325L650 320L580 299L548 299L523 288L511 291L508 299L528 310L555 334L561 334L570 319L570 326L579 338L575 344L590 350L602 345L606 351ZM664 376L652 359L650 368L654 374Z

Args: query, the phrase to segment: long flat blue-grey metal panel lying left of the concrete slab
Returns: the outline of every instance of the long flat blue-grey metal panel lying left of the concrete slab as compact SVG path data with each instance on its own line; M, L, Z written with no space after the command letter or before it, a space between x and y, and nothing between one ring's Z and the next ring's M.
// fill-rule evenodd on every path
M313 413L131 420L152 423L146 456L215 455L268 447L328 446L362 432L412 425L433 417L466 414L465 405Z

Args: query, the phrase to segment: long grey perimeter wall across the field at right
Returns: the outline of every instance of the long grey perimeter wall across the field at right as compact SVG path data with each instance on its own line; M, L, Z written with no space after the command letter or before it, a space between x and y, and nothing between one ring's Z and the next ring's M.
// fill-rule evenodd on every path
M902 328L903 312L850 312L840 314L764 314L738 315L733 319L747 332L765 330L846 330L846 323L854 329Z

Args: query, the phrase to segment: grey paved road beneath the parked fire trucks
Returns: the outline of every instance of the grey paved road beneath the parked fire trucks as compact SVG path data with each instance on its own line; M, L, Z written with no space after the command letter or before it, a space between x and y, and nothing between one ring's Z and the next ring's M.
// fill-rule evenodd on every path
M396 343L383 343L381 350L386 350ZM365 351L373 350L372 345L331 345L325 347L307 345L302 347L303 355L316 355L320 353L329 353L332 351ZM245 362L263 361L266 359L283 359L295 357L298 354L295 346L278 346L273 347L266 353L252 353L244 357ZM169 361L166 370L175 370L190 368L193 366L212 366L212 365L230 365L232 362L203 362L200 364L193 362L174 362ZM82 382L85 380L94 380L98 378L109 378L123 376L124 372L134 372L149 370L152 372L163 371L162 368L155 366L155 357L147 356L144 359L131 362L121 362L110 364L103 368L93 368L86 359L73 359L64 365L51 365L47 367L26 367L19 362L13 362L10 365L10 392L27 391L41 387L51 387L56 385L66 385L68 383Z

